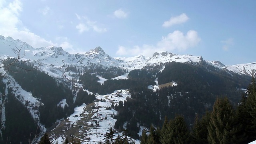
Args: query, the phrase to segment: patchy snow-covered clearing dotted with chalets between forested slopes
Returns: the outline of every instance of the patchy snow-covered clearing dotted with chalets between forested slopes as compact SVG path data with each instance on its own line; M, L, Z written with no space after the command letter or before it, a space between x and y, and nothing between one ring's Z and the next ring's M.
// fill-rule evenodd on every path
M114 128L116 122L113 116L117 111L111 109L111 105L116 105L127 97L130 97L128 90L117 90L112 94L97 95L94 103L76 107L73 114L50 132L54 144L61 144L66 136L70 137L69 131L73 132L74 137L81 140L82 144L98 144L100 140L104 141L104 134ZM116 131L115 137L118 134L122 136L122 133ZM139 144L139 140L134 141Z

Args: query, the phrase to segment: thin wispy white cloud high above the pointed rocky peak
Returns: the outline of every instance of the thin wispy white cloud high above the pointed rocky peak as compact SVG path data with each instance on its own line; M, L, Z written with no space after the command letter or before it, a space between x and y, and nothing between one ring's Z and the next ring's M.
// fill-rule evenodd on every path
M76 14L76 18L80 21L80 23L76 25L76 29L78 29L79 33L83 33L84 31L89 31L90 29L92 29L94 32L99 32L99 33L107 31L106 28L100 28L97 25L96 21L91 21L86 16L81 17L78 14Z

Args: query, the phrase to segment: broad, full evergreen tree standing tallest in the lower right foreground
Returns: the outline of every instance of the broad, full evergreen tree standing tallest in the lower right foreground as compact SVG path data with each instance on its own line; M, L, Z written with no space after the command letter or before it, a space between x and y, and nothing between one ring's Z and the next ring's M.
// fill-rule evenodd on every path
M241 128L228 98L217 98L208 126L209 144L239 144Z

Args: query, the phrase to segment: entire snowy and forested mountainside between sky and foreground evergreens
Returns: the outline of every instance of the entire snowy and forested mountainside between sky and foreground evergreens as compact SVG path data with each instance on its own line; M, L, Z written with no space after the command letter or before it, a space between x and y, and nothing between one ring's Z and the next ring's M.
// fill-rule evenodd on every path
M96 144L109 128L139 143L142 130L162 126L165 116L182 114L192 125L195 114L211 110L217 97L228 97L236 106L256 71L256 63L225 66L166 51L150 58L112 58L100 47L69 54L61 47L33 48L3 36L0 47L1 64L15 60L13 48L25 54L1 71L4 143L36 142L49 132L54 142L72 135Z

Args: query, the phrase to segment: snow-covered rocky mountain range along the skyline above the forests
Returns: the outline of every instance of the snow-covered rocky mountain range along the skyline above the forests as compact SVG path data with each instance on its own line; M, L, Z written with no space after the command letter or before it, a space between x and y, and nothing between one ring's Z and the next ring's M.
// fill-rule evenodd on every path
M63 65L90 66L91 64L101 64L104 67L122 67L129 71L139 69L146 65L166 63L166 62L202 62L205 61L202 56L179 55L167 51L155 52L150 58L139 55L130 58L117 57L112 58L98 46L84 54L69 54L61 47L48 46L33 48L21 40L14 40L11 37L0 36L0 54L1 56L16 56L12 49L22 48L21 54L25 52L24 59L40 61L42 64L61 67ZM24 51L25 50L25 51ZM208 64L232 72L253 76L256 72L256 63L237 64L226 66L219 61L205 61Z

